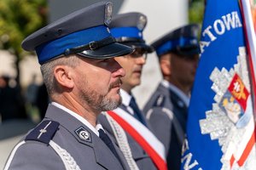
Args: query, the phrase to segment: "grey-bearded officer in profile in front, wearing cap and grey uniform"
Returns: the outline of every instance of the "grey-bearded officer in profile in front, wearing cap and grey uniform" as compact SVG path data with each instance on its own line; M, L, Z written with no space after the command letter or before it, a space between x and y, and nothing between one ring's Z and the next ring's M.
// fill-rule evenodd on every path
M51 104L44 120L15 146L5 169L129 169L96 117L120 103L125 71L113 58L133 49L108 30L112 3L96 3L34 32Z

